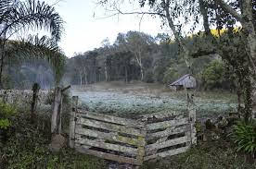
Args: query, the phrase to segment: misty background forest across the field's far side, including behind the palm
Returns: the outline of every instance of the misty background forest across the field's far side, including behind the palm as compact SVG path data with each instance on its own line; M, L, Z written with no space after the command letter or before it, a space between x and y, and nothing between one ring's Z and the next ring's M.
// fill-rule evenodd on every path
M186 45L193 49L198 38L198 35L187 37ZM168 34L152 37L139 31L119 33L113 44L105 39L100 48L66 58L62 83L87 85L100 81L129 83L141 80L168 85L183 75L192 74L197 79L198 90L236 89L228 64L218 54L192 58L188 69L180 50L178 43L173 42ZM54 87L54 74L45 60L19 59L14 62L11 59L4 71L6 89L31 89L34 82L42 89Z

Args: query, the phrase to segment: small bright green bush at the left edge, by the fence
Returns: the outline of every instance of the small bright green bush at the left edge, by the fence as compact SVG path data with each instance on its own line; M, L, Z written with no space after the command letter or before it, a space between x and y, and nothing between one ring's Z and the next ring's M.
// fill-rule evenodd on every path
M0 102L0 129L6 129L11 126L11 117L16 115L16 109L7 104Z

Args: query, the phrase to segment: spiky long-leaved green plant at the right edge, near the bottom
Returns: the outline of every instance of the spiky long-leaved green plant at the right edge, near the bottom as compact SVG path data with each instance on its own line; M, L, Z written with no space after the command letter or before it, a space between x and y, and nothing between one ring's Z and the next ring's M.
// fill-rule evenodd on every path
M256 152L256 122L237 122L234 127L233 139L237 143L237 151L245 151L254 155Z

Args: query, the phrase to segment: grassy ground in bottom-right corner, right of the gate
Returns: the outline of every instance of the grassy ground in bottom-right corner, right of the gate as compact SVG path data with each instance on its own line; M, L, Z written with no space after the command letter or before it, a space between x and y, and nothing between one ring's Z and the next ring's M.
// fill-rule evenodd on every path
M199 143L185 153L145 163L142 169L253 169L256 162L246 160L224 139Z

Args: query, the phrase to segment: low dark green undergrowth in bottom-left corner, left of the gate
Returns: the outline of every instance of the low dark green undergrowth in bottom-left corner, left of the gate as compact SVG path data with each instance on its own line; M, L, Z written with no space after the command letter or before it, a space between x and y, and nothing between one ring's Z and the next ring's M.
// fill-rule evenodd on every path
M28 122L26 113L17 115L9 139L2 149L0 147L1 169L106 168L103 159L80 154L69 148L63 148L58 153L49 151L50 132L42 132L35 124Z

